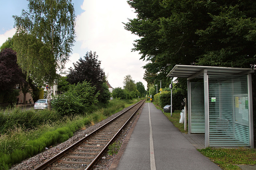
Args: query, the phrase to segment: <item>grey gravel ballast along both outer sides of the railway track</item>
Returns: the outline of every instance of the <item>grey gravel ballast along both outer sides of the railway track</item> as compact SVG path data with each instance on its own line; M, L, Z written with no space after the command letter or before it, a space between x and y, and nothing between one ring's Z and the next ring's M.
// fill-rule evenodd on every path
M132 107L132 106L130 106L130 107ZM108 117L107 119L97 123L96 125L90 126L85 130L76 131L76 133L74 133L74 136L71 137L70 139L68 139L67 141L65 141L64 143L61 143L61 144L59 144L55 147L46 148L40 154L37 154L36 156L33 156L32 158L28 158L28 159L24 160L20 164L16 164L16 165L12 166L11 170L33 170L34 168L36 168L37 166L42 164L44 161L48 160L49 158L51 158L55 154L58 154L60 151L66 149L67 147L69 147L73 143L76 143L76 141L79 141L85 135L90 134L92 131L101 127L106 122L108 122L111 119L113 119L114 117L120 115L120 113L124 112L125 110L127 110L130 107L127 107L127 108L123 109L122 111L119 111L118 113L115 113L114 115ZM141 110L142 109L140 109L140 111ZM138 114L136 114L136 116L138 116ZM131 120L131 123L129 123L129 125L126 126L123 133L116 139L116 141L122 141L122 142L124 141L124 139L126 138L127 133L129 132L129 130L132 126L132 123L136 119L136 116L134 116L134 118ZM97 170L98 169L108 170L108 168L111 166L112 162L114 161L115 157L116 157L116 155L109 156L108 154L104 154L104 156L102 157L100 162L97 164L96 169Z

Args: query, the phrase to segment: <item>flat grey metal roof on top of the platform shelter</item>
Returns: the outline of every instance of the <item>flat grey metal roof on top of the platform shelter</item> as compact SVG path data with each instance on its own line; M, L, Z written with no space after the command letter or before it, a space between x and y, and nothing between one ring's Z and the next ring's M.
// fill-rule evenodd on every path
M176 65L167 76L203 78L204 72L207 72L209 76L231 76L253 73L254 70L251 68Z

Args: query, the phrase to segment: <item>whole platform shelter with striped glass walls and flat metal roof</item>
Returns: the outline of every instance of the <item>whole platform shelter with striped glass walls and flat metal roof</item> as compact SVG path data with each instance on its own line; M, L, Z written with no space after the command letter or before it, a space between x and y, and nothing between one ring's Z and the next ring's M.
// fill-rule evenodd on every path
M176 65L168 77L188 81L188 132L204 133L205 147L253 144L253 69Z

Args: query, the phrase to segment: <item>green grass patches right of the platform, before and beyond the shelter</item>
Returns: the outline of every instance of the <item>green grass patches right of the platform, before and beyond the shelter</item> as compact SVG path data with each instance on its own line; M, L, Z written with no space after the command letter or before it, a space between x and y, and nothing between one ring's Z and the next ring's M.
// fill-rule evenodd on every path
M158 106L153 102L156 108L163 110L162 107ZM172 113L165 113L166 117L173 123L173 125L179 129L182 133L188 133L184 131L184 124L179 123L180 121L180 110L175 110ZM188 116L187 116L188 117ZM188 122L188 119L187 119ZM188 127L188 124L187 124ZM234 149L224 149L224 148L206 148L198 149L204 156L208 157L212 162L220 166L224 170L241 170L238 165L255 165L256 164L256 150L248 148L234 148Z

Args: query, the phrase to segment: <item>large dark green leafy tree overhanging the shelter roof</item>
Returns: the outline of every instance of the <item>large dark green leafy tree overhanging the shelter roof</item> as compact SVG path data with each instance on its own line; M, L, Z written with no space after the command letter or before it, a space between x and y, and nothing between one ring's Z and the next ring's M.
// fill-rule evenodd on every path
M255 68L256 1L128 0L128 4L137 18L130 19L125 29L140 37L133 50L150 61L144 66L148 73L163 77L176 64Z

